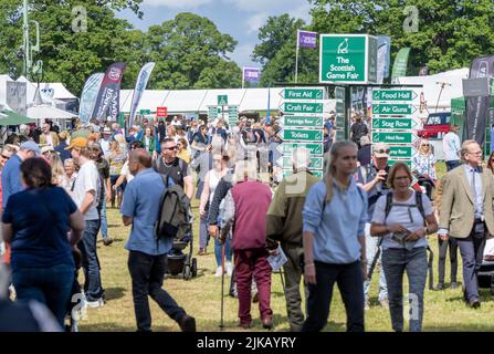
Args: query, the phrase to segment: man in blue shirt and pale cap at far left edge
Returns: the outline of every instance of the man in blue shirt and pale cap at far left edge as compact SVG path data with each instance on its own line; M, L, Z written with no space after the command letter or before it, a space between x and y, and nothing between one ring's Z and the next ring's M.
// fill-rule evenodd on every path
M3 167L2 171L2 209L6 208L9 197L24 189L21 183L21 164L24 159L40 156L40 147L29 140L21 144L19 152L13 155Z

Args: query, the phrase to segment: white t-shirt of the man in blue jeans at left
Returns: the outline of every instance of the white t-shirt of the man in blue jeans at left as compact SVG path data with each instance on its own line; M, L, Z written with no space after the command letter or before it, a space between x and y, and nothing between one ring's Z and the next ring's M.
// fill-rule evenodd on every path
M97 198L99 196L99 174L94 162L88 160L81 166L75 178L73 198L77 208L81 208L82 201L86 192L94 190L94 201L90 209L84 214L84 220L97 220L99 215L97 212Z

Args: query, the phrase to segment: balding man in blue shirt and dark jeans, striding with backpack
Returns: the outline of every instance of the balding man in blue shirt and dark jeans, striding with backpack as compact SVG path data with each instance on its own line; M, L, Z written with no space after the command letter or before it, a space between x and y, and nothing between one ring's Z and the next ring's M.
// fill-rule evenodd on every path
M189 316L162 287L166 254L171 239L155 239L161 195L161 176L151 168L151 157L144 148L135 149L128 158L128 169L135 178L127 185L122 205L125 226L133 225L125 244L129 250L128 270L133 281L134 311L138 331L151 331L148 295L179 325L183 332L196 332L196 320Z

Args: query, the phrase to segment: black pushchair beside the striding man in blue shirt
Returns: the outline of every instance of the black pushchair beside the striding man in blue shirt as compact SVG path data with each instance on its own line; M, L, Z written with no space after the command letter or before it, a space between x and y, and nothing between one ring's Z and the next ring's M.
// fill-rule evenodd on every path
M181 273L185 280L197 277L197 258L192 257L193 252L193 232L192 232L192 212L188 212L187 232L174 239L171 250L167 254L167 273L176 277ZM189 247L189 252L182 251Z

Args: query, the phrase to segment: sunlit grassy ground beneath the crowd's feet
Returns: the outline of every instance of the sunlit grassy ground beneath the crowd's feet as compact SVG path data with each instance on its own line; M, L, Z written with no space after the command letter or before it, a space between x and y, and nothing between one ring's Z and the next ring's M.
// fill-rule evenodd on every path
M439 175L444 173L444 166L440 166ZM195 215L198 215L197 204L193 205ZM108 209L109 235L115 242L105 247L98 242L98 254L102 262L102 280L106 289L107 303L101 309L88 309L87 319L80 324L81 331L135 331L135 316L130 290L130 277L127 270L127 254L124 243L127 240L129 229L122 226L120 216L116 209ZM195 223L195 254L198 250L198 222ZM437 281L438 242L437 237L431 236L429 243L434 250L434 281ZM219 331L221 278L214 278L216 262L213 243L208 248L207 256L198 258L199 274L197 278L185 281L181 279L167 279L165 289L193 315L198 331ZM446 281L449 281L449 261L446 262ZM459 264L459 280L461 281L461 261ZM82 280L82 279L81 279ZM229 278L225 278L225 293L228 292ZM286 305L280 274L272 275L271 304L274 312L274 331L287 331ZM371 304L366 312L367 331L390 331L389 311L379 306L377 302L378 277L374 277L370 289ZM406 292L407 287L403 292ZM424 331L494 331L494 319L487 313L494 311L494 298L488 290L481 291L482 308L472 310L462 301L462 290L425 291L425 313L423 320ZM178 325L170 320L156 303L150 300L153 314L153 327L155 331L179 331ZM224 331L239 331L237 329L238 300L224 298ZM259 320L257 304L252 306L252 331L263 331ZM332 311L326 331L345 331L345 310L339 292L335 290Z

